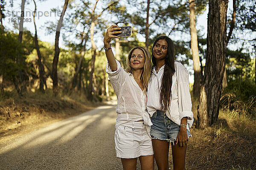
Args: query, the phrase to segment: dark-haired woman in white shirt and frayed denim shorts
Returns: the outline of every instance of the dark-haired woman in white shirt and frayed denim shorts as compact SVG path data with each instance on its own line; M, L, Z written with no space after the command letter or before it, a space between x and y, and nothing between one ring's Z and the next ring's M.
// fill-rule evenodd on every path
M169 170L169 143L174 170L185 169L189 127L194 121L186 68L174 59L174 45L161 36L152 47L151 78L147 109L151 115L151 138L158 170Z

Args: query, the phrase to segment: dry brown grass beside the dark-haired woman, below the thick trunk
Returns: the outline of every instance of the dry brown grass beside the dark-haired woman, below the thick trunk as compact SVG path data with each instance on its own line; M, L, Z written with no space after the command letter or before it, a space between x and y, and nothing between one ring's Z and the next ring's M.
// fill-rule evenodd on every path
M198 101L193 101L197 122ZM256 120L246 114L220 111L212 127L191 128L187 170L256 170Z

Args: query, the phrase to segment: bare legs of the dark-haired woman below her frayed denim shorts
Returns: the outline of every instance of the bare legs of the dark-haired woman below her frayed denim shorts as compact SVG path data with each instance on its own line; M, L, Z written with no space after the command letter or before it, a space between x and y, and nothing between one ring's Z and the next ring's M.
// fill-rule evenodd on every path
M169 170L169 142L166 140L152 139L154 156L158 170ZM174 170L185 170L186 146L172 144L172 161Z

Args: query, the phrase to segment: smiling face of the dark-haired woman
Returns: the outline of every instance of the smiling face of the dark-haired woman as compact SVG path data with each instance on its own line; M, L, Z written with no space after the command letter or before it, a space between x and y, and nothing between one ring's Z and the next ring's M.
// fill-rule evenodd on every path
M153 55L156 60L162 60L166 58L168 52L168 43L164 39L160 39L157 41L153 48Z

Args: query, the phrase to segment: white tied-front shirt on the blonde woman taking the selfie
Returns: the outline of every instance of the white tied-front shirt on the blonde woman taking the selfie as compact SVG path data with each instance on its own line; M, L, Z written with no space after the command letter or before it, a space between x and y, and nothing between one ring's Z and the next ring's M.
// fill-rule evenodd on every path
M144 93L145 89L144 91L141 90L133 75L124 71L118 60L116 60L116 64L116 71L111 71L108 63L105 67L117 96L115 127L125 122L136 122L142 119L145 125L153 125L146 110L147 96Z

